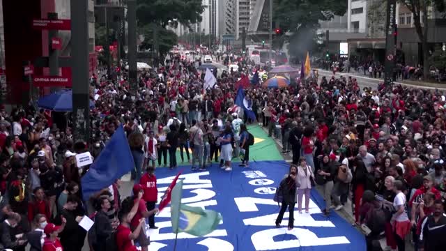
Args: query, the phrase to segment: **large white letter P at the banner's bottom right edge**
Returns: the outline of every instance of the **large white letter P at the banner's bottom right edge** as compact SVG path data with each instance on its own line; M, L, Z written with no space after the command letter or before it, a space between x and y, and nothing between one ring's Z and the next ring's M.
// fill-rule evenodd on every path
M274 241L275 236L282 234L293 234L297 240ZM257 251L350 243L344 236L318 238L312 231L309 231L308 229L300 229L298 227L295 227L291 231L288 231L286 228L258 231L251 236L251 241Z

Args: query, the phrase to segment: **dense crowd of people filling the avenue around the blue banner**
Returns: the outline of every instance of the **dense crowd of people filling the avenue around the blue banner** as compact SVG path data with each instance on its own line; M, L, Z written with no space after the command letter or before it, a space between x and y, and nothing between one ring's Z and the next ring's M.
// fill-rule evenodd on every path
M323 214L353 201L355 224L369 229L367 250L380 250L376 243L382 238L399 251L406 238L418 250L438 250L445 243L443 92L361 89L352 77L291 77L286 89L245 89L252 121L235 104L236 82L256 66L236 63L237 70L203 90L199 63L171 55L164 66L139 73L136 95L124 68L111 76L100 71L91 78L90 142L73 139L70 119L63 120L70 116L33 105L10 112L0 107L0 249L82 250L87 239L91 250L108 250L104 243L114 243L114 250L147 250L146 230L157 228L155 169L169 162L170 169L206 170L216 162L232 172L231 160L239 156L240 168L255 165L249 164L250 123L281 139L283 152L293 157L281 182L277 227L286 206L294 211L296 201L299 213L309 213L309 191L321 185ZM90 151L98 157L118 126L134 159L132 196L121 199L117 180L84 201L81 178L89 166L78 168L75 156ZM95 222L88 232L79 226L84 217Z

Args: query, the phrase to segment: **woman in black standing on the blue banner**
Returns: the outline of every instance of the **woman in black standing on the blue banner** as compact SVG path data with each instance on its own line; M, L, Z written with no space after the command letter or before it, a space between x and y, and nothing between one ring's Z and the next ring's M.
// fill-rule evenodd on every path
M278 197L282 197L282 207L280 208L279 215L276 219L276 227L280 227L280 223L284 218L284 213L286 208L289 208L289 220L288 220L288 230L294 228L294 206L295 206L295 176L298 172L295 165L290 166L289 174L280 182L279 188L277 188Z

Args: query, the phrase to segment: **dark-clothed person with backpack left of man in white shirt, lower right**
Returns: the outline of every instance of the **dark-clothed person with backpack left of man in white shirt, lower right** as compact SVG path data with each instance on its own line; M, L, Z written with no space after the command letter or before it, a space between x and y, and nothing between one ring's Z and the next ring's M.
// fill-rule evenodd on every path
M364 191L360 207L361 229L364 231L367 251L380 251L380 238L385 236L385 213L374 192Z

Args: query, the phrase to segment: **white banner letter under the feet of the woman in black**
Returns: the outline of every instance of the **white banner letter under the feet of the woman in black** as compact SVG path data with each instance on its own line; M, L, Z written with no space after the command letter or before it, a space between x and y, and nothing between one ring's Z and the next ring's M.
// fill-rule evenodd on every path
M321 211L318 209L318 213ZM245 226L275 226L275 220L279 213L272 213L269 215L258 216L254 218L244 219ZM289 212L284 213L284 219L289 218ZM288 225L288 220L282 220L282 225ZM294 213L294 226L298 227L334 227L330 220L314 220L309 213Z

